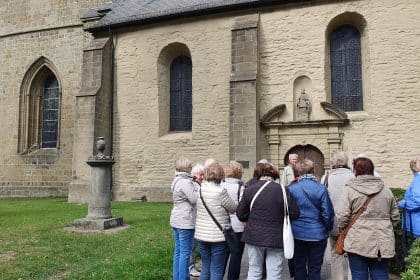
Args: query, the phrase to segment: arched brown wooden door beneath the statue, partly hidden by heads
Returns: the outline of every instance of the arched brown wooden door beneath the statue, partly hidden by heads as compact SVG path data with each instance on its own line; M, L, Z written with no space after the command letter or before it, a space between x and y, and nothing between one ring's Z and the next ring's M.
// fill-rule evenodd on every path
M284 157L285 166L289 164L289 154L297 154L299 160L307 158L314 162L315 176L318 181L324 175L324 156L321 151L312 145L296 145Z

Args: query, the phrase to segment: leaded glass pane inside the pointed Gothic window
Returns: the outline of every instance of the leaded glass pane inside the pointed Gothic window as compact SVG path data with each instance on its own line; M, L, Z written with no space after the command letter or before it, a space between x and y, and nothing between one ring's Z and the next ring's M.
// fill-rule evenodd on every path
M56 148L60 95L57 79L51 75L42 93L41 148Z

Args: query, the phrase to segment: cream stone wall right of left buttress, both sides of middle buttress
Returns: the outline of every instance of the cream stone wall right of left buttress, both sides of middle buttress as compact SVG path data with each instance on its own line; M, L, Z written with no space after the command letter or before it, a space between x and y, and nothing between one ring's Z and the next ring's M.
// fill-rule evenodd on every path
M114 141L115 195L130 200L168 197L173 163L229 160L231 27L235 17L260 12L260 115L286 104L293 120L293 83L309 77L314 119L330 118L327 27L344 13L366 21L363 33L364 111L349 113L343 149L370 156L392 187L411 180L408 162L420 156L420 3L354 1L266 8L127 29L117 37ZM170 43L188 46L193 63L193 129L159 136L157 57ZM268 155L264 143L260 154ZM300 143L296 143L300 144ZM328 156L329 157L329 156ZM248 173L249 174L249 173Z

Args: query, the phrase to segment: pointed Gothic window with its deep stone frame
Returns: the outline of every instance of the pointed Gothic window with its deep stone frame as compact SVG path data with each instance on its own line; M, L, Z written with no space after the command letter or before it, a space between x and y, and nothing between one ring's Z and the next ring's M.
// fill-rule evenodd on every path
M26 72L20 92L18 153L59 148L61 87L53 64L41 57Z

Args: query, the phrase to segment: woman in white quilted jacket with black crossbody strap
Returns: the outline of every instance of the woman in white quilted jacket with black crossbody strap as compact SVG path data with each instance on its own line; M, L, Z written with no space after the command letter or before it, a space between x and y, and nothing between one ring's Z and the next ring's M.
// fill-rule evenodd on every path
M225 236L211 215L223 229L230 228L229 213L234 213L237 206L226 189L220 186L224 175L223 167L217 162L204 168L204 182L197 201L195 224L195 238L202 261L201 280L223 279Z

